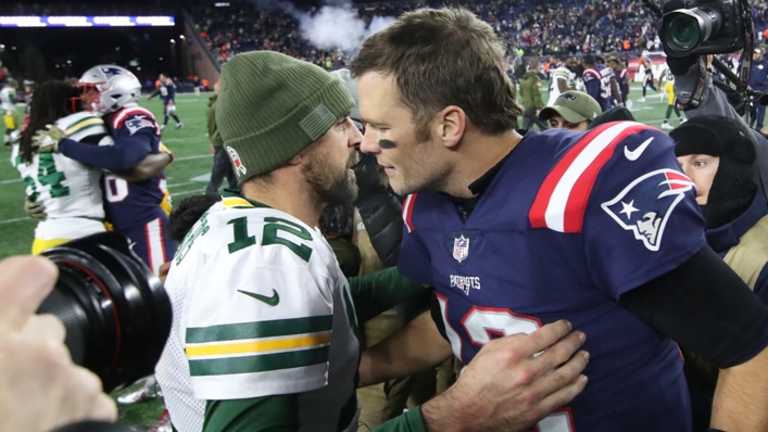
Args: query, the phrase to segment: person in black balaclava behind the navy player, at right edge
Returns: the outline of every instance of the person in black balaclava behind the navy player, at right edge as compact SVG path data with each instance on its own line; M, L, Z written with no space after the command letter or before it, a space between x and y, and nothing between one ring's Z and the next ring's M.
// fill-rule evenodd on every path
M768 201L755 182L756 151L746 126L705 115L669 132L685 175L696 186L707 244L768 304ZM705 430L718 369L685 346L685 379L694 430Z

